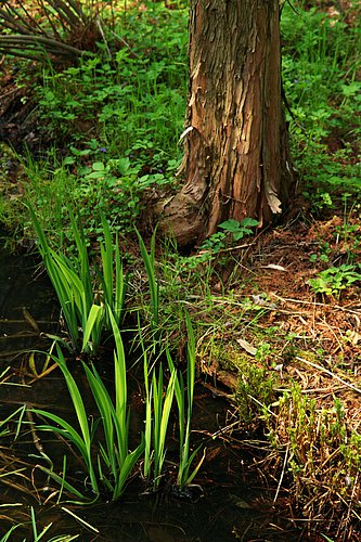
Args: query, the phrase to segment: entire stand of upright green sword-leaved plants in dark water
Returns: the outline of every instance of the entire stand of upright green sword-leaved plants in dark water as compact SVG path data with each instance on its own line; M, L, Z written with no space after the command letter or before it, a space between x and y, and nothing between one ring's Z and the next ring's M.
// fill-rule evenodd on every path
M51 459L41 452L47 465L38 467L56 481L61 493L65 491L80 502L91 502L101 495L113 501L118 500L129 479L139 466L147 486L158 490L160 481L167 475L167 442L169 420L173 408L178 413L179 462L177 486L180 489L192 483L203 459L195 463L199 448L191 450L191 420L195 385L195 338L191 319L183 311L188 335L188 365L184 379L176 369L168 348L159 340L159 287L155 261L155 235L147 251L141 235L139 246L143 259L147 283L151 314L151 336L143 337L141 325L133 343L142 347L143 360L143 402L144 429L137 446L130 450L130 412L128 406L128 364L120 332L125 311L125 276L117 240L113 240L108 222L103 218L103 240L100 242L100 264L91 266L87 242L81 223L70 215L70 223L76 248L73 257L62 250L53 249L33 209L30 209L35 231L38 235L39 250L44 267L57 294L64 320L67 325L74 352L95 353L99 350L103 332L114 341L114 392L105 386L95 367L95 358L81 361L88 388L95 404L96 413L87 410L82 390L72 374L72 363L64 357L64 340L55 337L56 353L53 347L48 356L59 365L65 378L76 424L48 412L33 409L33 413L49 423L40 424L37 431L52 431L68 441L77 451L89 479L90 491L79 490L66 475L67 459L64 455L62 475L57 474ZM140 321L139 317L139 321ZM66 343L65 343L66 344ZM72 349L67 348L67 356ZM159 362L166 358L166 367ZM169 373L169 377L168 377ZM172 463L173 465L173 463Z

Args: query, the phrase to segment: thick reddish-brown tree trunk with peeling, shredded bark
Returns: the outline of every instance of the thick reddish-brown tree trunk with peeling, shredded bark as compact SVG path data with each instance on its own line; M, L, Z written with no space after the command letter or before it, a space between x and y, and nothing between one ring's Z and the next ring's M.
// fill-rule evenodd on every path
M217 225L280 214L293 186L281 99L279 0L191 0L180 173L163 208L181 245Z

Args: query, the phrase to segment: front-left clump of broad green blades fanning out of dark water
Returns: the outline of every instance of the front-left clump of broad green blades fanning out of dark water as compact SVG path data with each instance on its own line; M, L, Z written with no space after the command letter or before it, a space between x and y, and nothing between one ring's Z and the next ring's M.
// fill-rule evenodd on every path
M102 378L100 377L94 364L88 366L82 362L90 390L94 398L99 418L90 423L91 416L86 411L79 387L67 369L66 361L59 345L56 345L56 362L63 372L65 382L72 398L75 414L78 421L80 433L60 416L34 409L39 416L49 418L55 425L39 425L39 430L51 430L69 440L78 450L90 478L90 487L96 500L101 494L101 483L107 493L111 493L112 500L117 501L123 494L126 483L144 451L143 438L140 444L129 451L129 409L127 405L127 367L124 345L112 310L107 307L109 321L113 327L115 338L114 351L114 383L115 383L115 403L107 391ZM94 439L96 431L103 429L104 443L99 442L99 453L94 457ZM96 465L96 466L95 466ZM51 476L59 485L73 493L81 501L90 501L85 494L79 492L74 486L68 483L65 477L60 477L52 469L39 466L43 472ZM65 467L63 467L63 472Z

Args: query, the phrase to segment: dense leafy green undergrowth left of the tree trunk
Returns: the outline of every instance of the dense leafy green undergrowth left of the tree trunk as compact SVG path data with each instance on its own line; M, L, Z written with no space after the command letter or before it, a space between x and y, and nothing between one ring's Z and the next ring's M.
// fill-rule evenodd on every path
M89 234L101 229L100 211L114 230L129 233L155 191L175 189L186 101L186 10L147 2L144 10L120 11L111 36L111 50L100 43L96 54L63 70L49 64L29 75L22 64L20 85L24 100L36 104L30 116L40 149L36 157L21 151L20 186L4 189L0 221L10 230L31 235L26 203L42 209L42 225L54 236L66 236L68 208L81 215Z

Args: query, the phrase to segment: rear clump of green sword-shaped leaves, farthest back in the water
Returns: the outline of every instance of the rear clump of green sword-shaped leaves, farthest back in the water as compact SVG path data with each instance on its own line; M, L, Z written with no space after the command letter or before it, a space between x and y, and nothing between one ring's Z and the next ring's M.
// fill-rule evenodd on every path
M38 235L40 254L61 304L72 346L75 350L79 349L81 330L81 351L94 353L103 331L112 327L104 306L109 305L117 324L124 311L127 279L118 242L116 240L115 245L113 244L109 224L102 217L104 241L101 242L101 266L95 267L93 275L82 224L77 223L72 212L70 224L76 246L73 259L50 247L31 207L29 212Z

